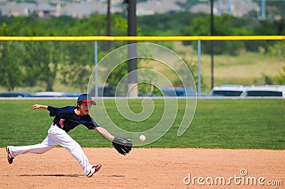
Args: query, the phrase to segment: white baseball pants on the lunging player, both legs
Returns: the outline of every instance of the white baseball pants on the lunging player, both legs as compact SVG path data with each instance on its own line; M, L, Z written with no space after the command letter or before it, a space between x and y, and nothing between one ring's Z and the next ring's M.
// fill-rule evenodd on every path
M51 148L55 148L58 145L66 148L69 153L76 158L86 175L89 173L92 165L89 164L88 158L83 152L81 146L75 140L73 140L71 136L66 133L66 131L60 129L56 125L51 125L51 128L48 129L48 136L46 136L46 139L44 139L41 144L28 146L9 146L9 151L12 157L27 153L41 154L51 150Z

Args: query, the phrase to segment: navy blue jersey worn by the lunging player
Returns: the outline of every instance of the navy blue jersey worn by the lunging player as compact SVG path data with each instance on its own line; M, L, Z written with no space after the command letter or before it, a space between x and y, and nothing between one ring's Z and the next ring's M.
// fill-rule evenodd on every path
M93 121L89 114L79 116L74 112L76 107L51 107L48 106L50 117L54 117L53 123L61 127L64 131L68 132L74 129L79 124L85 125L88 129L97 127L98 124Z

